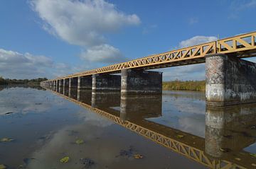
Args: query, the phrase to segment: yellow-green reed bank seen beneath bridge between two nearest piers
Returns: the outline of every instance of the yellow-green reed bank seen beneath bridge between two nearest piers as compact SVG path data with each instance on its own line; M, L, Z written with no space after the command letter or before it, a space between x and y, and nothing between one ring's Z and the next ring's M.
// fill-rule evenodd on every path
M164 81L163 90L205 91L206 81Z

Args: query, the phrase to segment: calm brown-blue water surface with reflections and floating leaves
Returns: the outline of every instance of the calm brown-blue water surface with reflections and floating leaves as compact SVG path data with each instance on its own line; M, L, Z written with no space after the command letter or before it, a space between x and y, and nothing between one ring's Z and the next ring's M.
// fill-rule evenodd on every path
M256 105L206 107L191 91L0 90L0 168L256 168Z

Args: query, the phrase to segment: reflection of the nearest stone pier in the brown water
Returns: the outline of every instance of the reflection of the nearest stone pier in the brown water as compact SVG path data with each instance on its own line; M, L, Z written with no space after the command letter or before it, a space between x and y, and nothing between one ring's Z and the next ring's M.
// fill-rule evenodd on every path
M225 157L225 151L245 153L241 150L256 141L255 112L255 105L207 107L206 152L217 158Z

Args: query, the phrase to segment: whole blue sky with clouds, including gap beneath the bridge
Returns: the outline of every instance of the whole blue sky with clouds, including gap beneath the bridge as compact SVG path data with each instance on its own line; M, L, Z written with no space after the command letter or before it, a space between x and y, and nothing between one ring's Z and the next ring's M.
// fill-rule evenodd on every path
M249 33L255 10L256 0L1 0L0 76L55 78ZM204 64L157 71L205 78Z

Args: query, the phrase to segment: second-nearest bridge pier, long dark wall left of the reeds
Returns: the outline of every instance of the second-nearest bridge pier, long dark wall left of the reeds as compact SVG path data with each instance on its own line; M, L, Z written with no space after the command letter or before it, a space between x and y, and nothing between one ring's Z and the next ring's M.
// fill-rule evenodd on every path
M161 94L162 72L122 69L121 94Z

